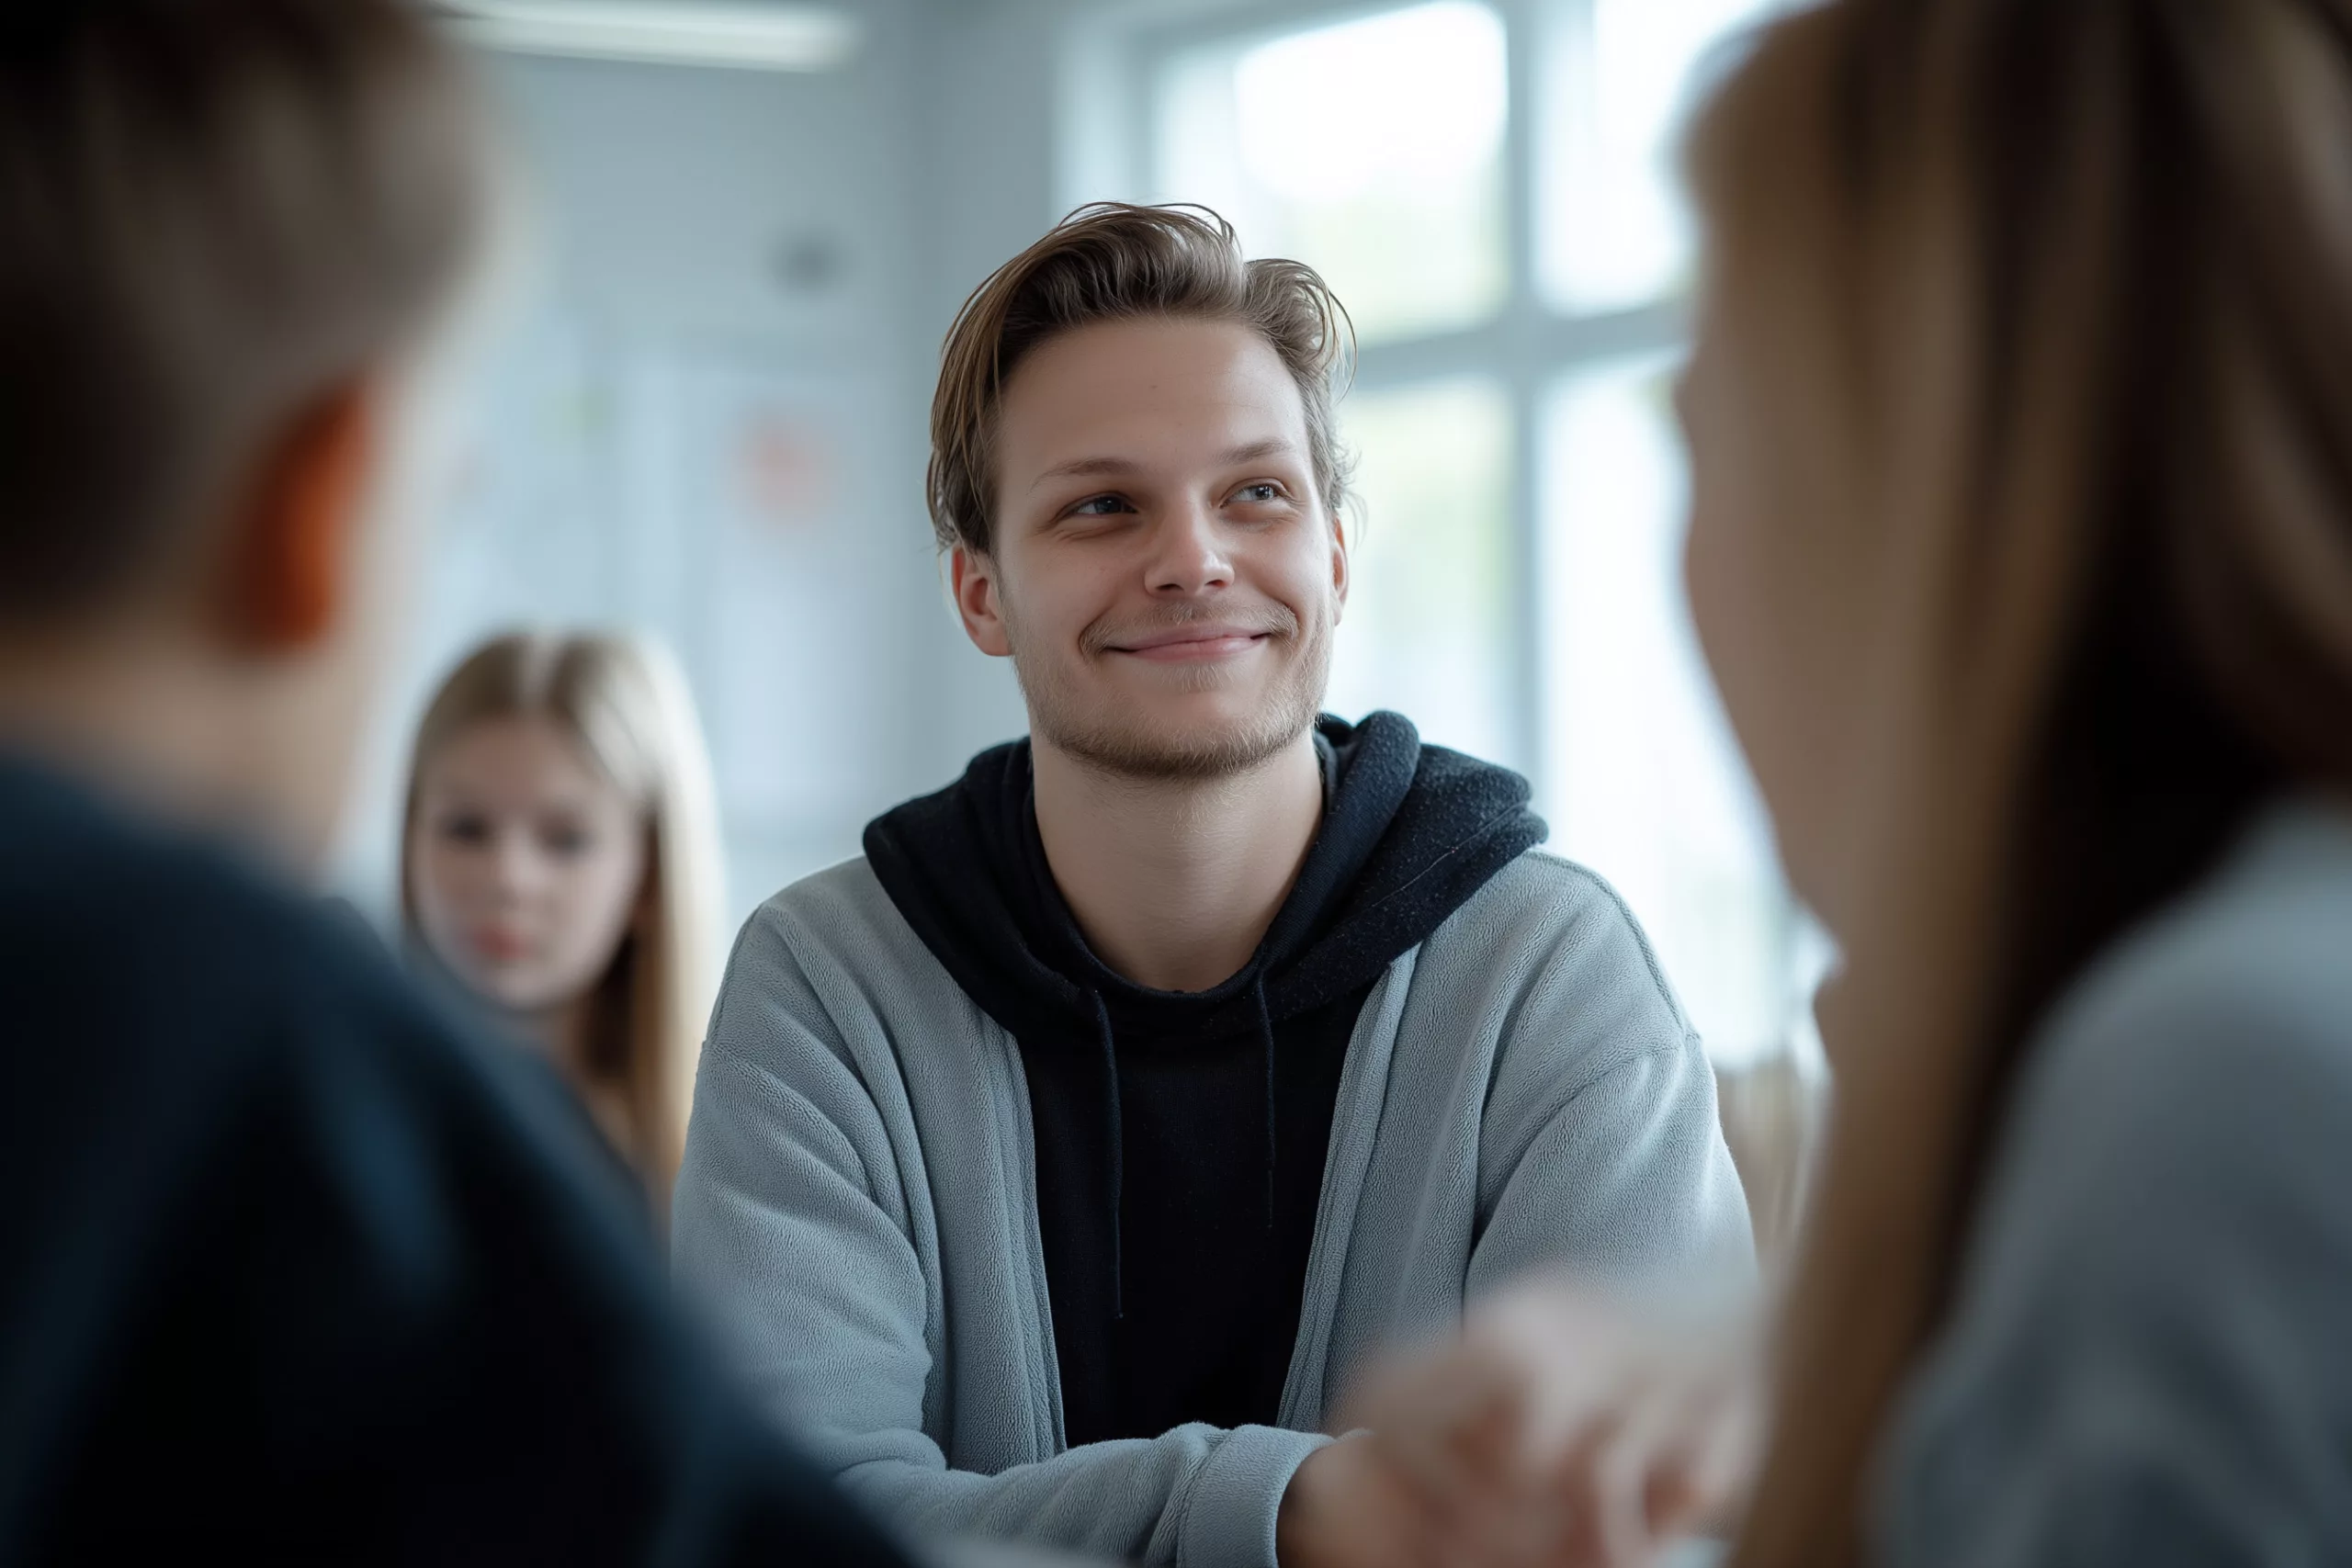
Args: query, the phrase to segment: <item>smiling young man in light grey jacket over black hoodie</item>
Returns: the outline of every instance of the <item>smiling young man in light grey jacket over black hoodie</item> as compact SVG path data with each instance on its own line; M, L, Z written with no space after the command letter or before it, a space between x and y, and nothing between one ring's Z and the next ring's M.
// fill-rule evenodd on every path
M743 931L680 1267L842 1481L1150 1563L1430 1544L1369 1354L1538 1265L1750 1267L1708 1060L1526 785L1317 719L1341 310L1096 207L948 339L931 510L1030 738Z

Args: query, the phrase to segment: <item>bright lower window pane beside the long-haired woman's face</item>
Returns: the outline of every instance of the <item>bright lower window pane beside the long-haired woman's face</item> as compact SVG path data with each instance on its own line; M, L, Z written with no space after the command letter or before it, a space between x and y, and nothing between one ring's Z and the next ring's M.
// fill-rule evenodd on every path
M1663 355L1545 411L1545 816L1632 905L1717 1060L1799 1025L1806 954L1682 595L1684 461Z

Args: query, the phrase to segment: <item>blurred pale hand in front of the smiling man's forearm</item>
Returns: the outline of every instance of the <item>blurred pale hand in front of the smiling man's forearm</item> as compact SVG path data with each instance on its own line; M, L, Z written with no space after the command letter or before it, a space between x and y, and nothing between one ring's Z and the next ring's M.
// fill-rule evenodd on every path
M1374 1378L1350 1425L1376 1434L1367 1465L1425 1516L1428 1561L1632 1568L1724 1530L1745 1502L1764 1418L1755 1345L1748 1319L1536 1281Z

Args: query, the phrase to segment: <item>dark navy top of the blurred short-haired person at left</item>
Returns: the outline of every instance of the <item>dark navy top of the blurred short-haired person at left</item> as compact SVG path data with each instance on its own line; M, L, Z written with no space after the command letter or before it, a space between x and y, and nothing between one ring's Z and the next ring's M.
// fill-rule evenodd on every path
M348 922L0 757L0 1561L896 1563L595 1131Z

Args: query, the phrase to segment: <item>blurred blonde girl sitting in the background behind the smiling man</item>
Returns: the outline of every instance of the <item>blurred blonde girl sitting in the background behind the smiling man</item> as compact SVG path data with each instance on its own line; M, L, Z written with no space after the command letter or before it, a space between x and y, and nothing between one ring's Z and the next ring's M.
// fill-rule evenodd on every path
M635 637L475 649L409 762L412 957L548 1053L656 1215L715 990L715 816L687 684Z

